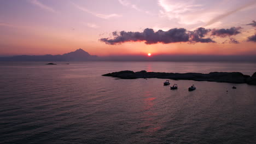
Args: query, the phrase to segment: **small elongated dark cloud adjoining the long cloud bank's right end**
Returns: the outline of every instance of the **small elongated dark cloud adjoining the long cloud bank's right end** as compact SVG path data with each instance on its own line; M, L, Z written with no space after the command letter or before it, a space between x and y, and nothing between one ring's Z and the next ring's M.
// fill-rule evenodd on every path
M211 35L215 35L218 37L227 37L227 36L231 36L231 35L236 35L241 33L240 29L242 29L241 27L231 27L231 28L222 28L222 29L212 29L212 34Z

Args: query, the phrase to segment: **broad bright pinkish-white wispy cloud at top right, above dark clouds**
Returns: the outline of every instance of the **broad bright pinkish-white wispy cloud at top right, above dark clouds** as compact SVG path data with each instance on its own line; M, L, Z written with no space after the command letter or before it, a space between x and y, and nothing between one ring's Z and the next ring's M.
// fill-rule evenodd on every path
M158 0L159 6L162 8L159 11L161 17L167 17L171 20L176 20L182 25L197 25L200 27L209 27L220 23L222 19L230 16L237 11L245 10L256 4L256 1L244 2L235 9L226 11L227 7L232 7L228 1L216 1L210 3L202 1L185 1L185 0ZM226 7L224 7L226 5ZM220 7L221 6L221 7ZM212 27L212 26L211 26Z

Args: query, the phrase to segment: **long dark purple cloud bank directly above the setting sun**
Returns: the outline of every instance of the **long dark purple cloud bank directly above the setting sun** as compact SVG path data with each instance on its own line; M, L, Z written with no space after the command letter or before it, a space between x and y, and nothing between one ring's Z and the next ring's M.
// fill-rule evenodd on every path
M205 28L198 28L195 31L187 31L184 28L172 28L168 31L159 30L154 32L153 29L146 28L143 32L113 32L113 39L102 38L100 40L110 45L125 43L127 41L145 41L145 44L170 44L179 42L214 43L210 38L203 38L210 31L210 29Z

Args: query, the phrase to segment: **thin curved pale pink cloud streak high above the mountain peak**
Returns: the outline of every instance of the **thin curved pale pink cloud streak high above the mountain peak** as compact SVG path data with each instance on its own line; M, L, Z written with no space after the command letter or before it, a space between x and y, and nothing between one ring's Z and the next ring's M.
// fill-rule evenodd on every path
M119 14L99 14L99 13L95 13L94 11L90 11L78 4L72 3L75 7L77 7L78 9L85 11L86 13L92 14L94 16L100 17L101 19L110 19L112 17L121 17L122 15Z

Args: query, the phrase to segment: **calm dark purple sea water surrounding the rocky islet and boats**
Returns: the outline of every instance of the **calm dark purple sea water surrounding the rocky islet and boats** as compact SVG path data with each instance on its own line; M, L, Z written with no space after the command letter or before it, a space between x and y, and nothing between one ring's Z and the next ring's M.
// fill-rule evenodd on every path
M121 80L120 70L240 71L255 63L0 63L0 143L255 143L256 86ZM188 87L197 89L188 92ZM237 89L232 89L232 86ZM228 92L227 92L228 91Z

